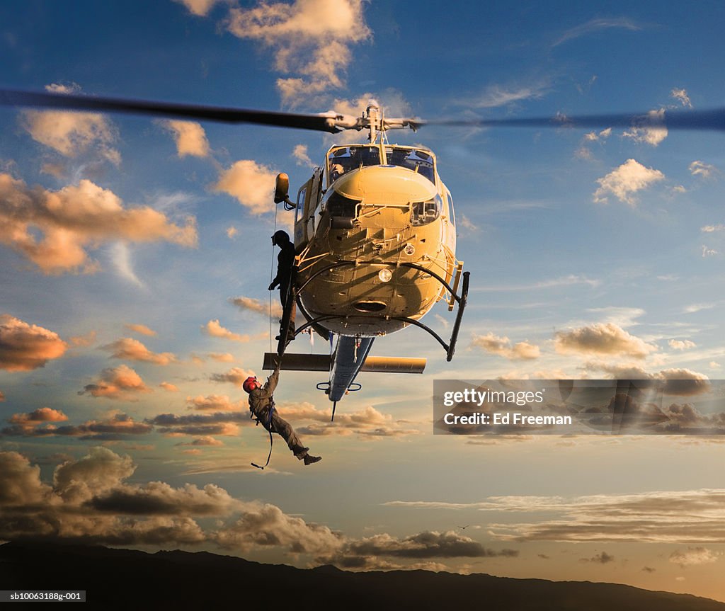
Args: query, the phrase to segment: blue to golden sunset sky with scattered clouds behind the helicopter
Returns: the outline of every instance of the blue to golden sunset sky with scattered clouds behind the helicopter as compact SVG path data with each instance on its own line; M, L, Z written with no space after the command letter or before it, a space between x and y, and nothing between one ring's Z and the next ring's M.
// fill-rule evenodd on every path
M429 119L701 110L724 104L724 19L711 1L8 1L0 86ZM325 376L283 372L278 410L323 460L277 441L260 471L241 381L276 334L274 177L296 193L349 138L0 109L0 540L725 601L722 435L442 436L431 401L436 379L720 378L723 134L389 134L435 151L452 192L457 354L380 338L426 372L361 374L334 423ZM425 321L450 333L442 305Z

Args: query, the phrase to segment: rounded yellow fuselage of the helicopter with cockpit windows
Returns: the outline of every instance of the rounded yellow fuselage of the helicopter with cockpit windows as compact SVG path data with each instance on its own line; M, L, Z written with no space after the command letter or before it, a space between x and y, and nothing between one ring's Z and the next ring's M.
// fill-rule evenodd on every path
M434 154L334 146L299 190L294 242L299 300L318 331L374 337L423 317L456 265L452 200Z

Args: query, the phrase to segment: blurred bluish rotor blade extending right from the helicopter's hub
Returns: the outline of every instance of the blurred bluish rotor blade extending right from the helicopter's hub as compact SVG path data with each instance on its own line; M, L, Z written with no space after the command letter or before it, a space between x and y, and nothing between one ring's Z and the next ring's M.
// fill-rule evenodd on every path
M667 128L725 131L725 108L664 112L582 115L569 117L523 117L512 119L416 120L417 125L450 125L488 128Z

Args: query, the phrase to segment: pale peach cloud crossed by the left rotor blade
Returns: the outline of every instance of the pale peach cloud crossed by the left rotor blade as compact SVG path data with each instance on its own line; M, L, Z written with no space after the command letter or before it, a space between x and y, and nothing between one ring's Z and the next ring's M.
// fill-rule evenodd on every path
M78 93L80 87L49 85L55 93ZM25 110L21 124L36 142L49 146L65 157L78 157L93 147L96 152L115 165L120 164L120 153L110 145L117 133L104 115L95 112L63 112L59 110Z

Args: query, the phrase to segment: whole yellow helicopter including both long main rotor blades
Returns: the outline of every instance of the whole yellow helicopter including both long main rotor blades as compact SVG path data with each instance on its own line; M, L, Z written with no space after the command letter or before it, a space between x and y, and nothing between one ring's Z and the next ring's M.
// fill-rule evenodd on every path
M326 112L317 115L210 107L168 102L113 99L66 93L0 89L0 105L75 111L124 112L228 123L255 123L338 133L368 130L365 144L339 145L310 180L289 198L289 178L279 175L275 201L295 210L294 247L297 275L292 299L281 320L276 353L265 354L264 367L281 358L288 370L328 371L318 384L334 406L360 385L360 371L422 373L425 359L370 356L374 338L414 325L431 333L450 360L455 352L468 297L469 273L455 257L455 217L450 191L438 174L436 156L422 146L388 144L392 129L422 125L467 127L626 127L725 130L725 109L583 117L421 120L388 118L371 103L360 117ZM460 292L459 292L460 288ZM289 297L289 296L288 296ZM449 341L421 323L436 302L457 305ZM331 355L286 353L287 329L295 307L308 329L337 336Z

